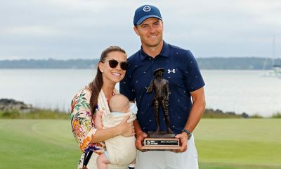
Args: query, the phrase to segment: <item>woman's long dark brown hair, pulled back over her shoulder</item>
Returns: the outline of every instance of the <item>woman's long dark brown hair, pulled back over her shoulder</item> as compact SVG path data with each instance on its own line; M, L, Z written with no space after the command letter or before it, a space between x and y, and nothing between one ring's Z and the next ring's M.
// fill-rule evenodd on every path
M107 57L107 54L109 54L112 51L120 51L124 54L126 54L126 51L124 49L120 48L119 46L109 46L107 49L105 49L101 55L100 55L100 61L98 63L104 63L105 58ZM95 79L90 82L89 88L91 89L91 99L90 99L90 107L91 107L91 113L95 113L96 108L98 106L98 94L100 93L101 88L103 87L103 74L100 72L100 69L97 66L97 73Z

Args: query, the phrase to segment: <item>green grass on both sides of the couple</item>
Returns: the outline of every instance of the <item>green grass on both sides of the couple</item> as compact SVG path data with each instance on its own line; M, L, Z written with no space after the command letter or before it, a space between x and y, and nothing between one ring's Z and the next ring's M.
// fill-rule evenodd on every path
M200 169L281 168L280 119L202 119ZM0 120L0 168L77 168L70 120Z

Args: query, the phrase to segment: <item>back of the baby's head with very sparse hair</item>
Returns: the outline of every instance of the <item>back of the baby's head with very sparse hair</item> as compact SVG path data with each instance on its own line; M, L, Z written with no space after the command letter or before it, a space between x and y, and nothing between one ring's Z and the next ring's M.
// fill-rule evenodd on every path
M110 99L109 106L110 106L110 111L126 113L126 111L128 110L128 108L130 106L130 101L123 94L115 94Z

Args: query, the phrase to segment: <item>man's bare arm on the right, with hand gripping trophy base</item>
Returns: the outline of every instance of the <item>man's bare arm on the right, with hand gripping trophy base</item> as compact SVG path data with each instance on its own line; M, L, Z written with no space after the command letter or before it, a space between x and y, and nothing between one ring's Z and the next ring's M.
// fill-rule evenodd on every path
M204 87L190 92L190 94L192 96L192 107L184 129L192 132L195 129L196 125L199 123L205 110L206 102ZM179 138L182 144L181 149L176 152L186 151L188 149L188 134L186 132L182 132L181 134L177 134L176 138Z

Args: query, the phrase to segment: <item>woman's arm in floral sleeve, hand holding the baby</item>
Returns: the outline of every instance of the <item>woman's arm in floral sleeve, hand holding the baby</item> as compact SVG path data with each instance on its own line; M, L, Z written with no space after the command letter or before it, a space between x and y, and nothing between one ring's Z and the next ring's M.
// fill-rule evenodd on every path
M81 151L84 151L90 143L102 142L117 135L131 136L134 134L132 123L127 123L125 118L116 127L97 129L95 127L95 115L92 115L90 108L91 91L88 88L81 89L71 104L71 121L74 138L79 142Z

